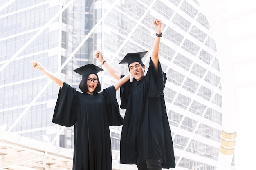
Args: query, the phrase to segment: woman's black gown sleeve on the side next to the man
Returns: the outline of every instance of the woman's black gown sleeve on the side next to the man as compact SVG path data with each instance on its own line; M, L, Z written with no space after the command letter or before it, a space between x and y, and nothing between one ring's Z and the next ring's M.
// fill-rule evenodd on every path
M123 117L119 112L119 105L117 103L116 89L114 86L110 86L102 91L102 94L106 100L108 124L110 126L119 126L123 124Z

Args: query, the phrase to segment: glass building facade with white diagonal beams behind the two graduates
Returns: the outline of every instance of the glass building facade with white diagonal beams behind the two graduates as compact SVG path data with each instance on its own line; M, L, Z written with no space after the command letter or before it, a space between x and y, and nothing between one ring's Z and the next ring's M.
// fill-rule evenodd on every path
M1 0L0 7L7 3ZM13 1L0 10L0 125L73 148L74 127L52 123L59 88L33 69L31 60L78 91L81 77L74 69L89 63L103 68L94 59L96 51L123 74L128 68L119 62L126 53L148 51L147 69L154 18L162 20L159 60L167 75L175 169L215 170L222 126L220 70L211 27L196 0ZM115 83L106 71L99 76L102 89ZM110 127L113 161L119 161L121 128Z

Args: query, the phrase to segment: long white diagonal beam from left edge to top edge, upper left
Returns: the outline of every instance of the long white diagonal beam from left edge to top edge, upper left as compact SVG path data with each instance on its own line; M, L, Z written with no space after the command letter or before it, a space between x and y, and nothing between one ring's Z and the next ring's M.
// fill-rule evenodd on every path
M0 68L0 72L8 65L10 64L10 62L12 62L27 46L29 46L29 44L31 42L33 42L38 35L40 35L40 33L42 33L46 28L49 27L50 24L52 24L52 22L54 22L54 20L56 18L58 18L59 15L62 14L63 11L65 11L65 9L67 9L67 7L70 6L70 4L72 4L74 2L74 0L70 0L62 9L61 11L58 11L58 13L56 13L54 15L54 17L52 17L51 20L49 20L28 42L26 42L9 60L7 60L7 62L5 62L1 68Z

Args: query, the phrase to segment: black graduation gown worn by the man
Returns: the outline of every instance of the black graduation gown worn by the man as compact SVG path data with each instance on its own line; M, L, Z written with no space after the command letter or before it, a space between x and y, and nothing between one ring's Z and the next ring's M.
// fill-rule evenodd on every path
M160 158L163 168L174 168L171 130L164 102L167 80L158 62L155 71L150 58L144 79L126 82L120 89L121 108L126 109L120 141L120 163L137 164ZM124 75L121 75L124 77Z

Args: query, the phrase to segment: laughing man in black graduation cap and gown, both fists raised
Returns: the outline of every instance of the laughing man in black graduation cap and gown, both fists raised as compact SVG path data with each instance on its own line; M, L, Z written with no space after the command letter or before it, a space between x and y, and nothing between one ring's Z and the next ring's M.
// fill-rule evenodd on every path
M128 53L120 62L128 64L132 75L132 79L120 89L121 108L126 109L121 133L120 163L137 164L139 170L175 168L163 93L167 78L158 57L162 23L155 19L153 24L157 33L147 73L141 60L147 51ZM95 57L113 77L124 77L103 59L100 52Z

